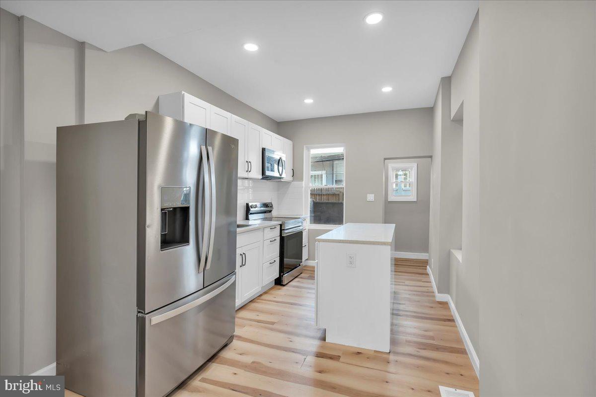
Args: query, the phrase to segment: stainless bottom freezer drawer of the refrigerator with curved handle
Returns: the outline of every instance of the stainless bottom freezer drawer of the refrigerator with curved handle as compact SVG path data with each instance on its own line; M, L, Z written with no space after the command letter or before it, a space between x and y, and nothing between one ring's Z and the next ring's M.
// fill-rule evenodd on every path
M139 397L166 395L234 335L235 283L232 273L139 317Z

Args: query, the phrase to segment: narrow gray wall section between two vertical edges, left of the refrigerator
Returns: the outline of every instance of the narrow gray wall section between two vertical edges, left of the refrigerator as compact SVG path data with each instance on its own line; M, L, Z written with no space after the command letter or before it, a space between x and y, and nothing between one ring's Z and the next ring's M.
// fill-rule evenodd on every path
M82 122L75 39L21 18L24 115L23 373L55 361L56 126Z

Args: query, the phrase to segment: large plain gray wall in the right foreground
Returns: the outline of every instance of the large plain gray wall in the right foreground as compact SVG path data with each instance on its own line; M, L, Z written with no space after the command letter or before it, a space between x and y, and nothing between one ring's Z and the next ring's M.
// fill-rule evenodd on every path
M594 396L596 2L480 23L480 395Z

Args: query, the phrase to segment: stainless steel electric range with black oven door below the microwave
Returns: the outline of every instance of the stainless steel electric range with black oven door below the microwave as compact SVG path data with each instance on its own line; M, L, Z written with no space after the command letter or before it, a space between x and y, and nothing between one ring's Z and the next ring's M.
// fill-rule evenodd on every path
M273 204L271 202L248 202L246 203L247 220L280 221L281 222L281 245L280 245L280 275L275 283L286 285L303 270L302 262L302 231L304 225L301 218L283 218L273 216Z

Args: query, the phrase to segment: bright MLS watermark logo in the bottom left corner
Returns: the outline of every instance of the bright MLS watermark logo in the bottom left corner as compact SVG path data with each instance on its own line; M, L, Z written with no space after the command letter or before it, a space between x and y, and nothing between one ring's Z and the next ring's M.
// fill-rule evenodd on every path
M64 397L64 376L2 376L0 397Z

